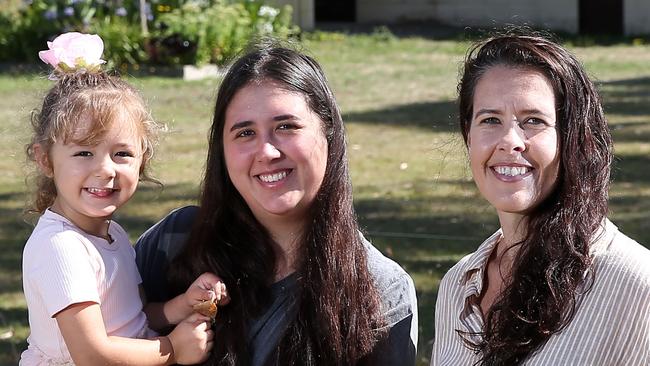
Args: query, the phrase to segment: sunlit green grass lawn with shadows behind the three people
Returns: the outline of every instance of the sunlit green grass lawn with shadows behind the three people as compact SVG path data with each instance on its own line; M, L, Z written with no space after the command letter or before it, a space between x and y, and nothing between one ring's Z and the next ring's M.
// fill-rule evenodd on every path
M386 34L320 34L304 47L324 66L349 136L355 205L368 237L413 276L419 356L427 364L441 276L498 227L469 175L456 132L455 88L467 43ZM612 220L650 243L650 47L573 48L598 80L616 143ZM131 80L169 126L154 162L163 190L143 186L116 219L132 239L169 210L194 203L217 81ZM29 114L50 85L42 75L0 75L0 365L16 363L28 335L20 275L31 228L24 157Z

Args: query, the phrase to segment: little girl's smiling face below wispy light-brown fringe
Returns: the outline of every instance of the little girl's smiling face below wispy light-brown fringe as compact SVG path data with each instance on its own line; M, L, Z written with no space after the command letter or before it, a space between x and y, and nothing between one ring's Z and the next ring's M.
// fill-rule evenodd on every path
M104 236L106 220L135 192L142 144L133 123L123 119L116 120L98 143L76 143L87 136L90 125L82 119L74 141L56 141L39 165L56 185L52 210L84 231Z

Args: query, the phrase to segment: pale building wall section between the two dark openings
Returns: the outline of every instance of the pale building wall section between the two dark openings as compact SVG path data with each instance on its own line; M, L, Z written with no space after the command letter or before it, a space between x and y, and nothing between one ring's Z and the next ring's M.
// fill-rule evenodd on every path
M359 22L425 19L455 26L526 23L577 32L578 0L357 0Z

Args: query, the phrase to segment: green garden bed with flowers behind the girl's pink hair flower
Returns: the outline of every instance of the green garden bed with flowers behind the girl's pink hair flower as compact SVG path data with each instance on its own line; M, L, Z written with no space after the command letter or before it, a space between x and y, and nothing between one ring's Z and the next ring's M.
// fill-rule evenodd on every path
M224 64L251 39L298 33L261 0L0 0L0 62L36 62L57 35L96 33L113 68Z

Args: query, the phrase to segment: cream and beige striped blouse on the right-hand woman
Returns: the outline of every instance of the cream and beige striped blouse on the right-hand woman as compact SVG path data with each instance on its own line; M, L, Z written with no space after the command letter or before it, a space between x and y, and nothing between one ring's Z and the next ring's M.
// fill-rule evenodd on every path
M460 260L440 283L431 366L474 365L479 357L457 330L480 332L481 293L497 231ZM594 283L579 295L576 313L562 331L523 363L572 366L650 365L650 250L618 231L609 220L592 244Z

